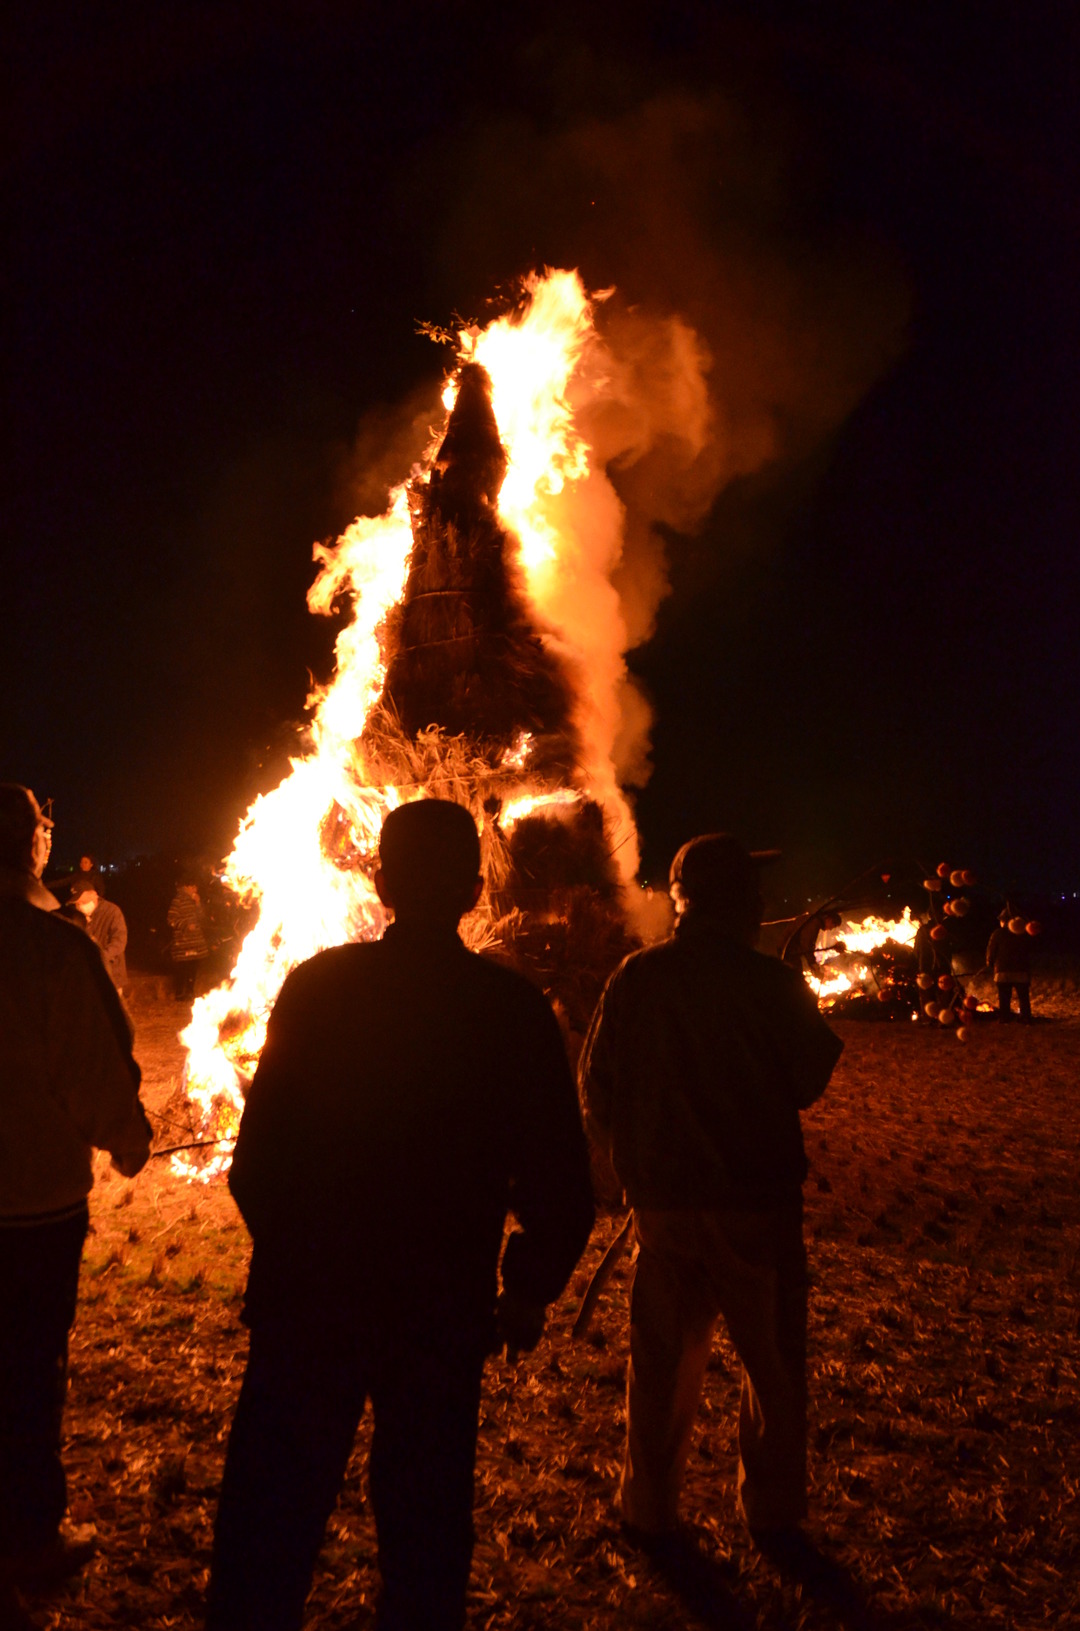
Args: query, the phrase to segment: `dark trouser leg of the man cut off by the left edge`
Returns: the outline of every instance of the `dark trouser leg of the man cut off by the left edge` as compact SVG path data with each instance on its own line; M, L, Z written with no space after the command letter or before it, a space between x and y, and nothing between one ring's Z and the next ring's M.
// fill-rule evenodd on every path
M86 1209L0 1230L0 1556L47 1546L67 1510L60 1425Z

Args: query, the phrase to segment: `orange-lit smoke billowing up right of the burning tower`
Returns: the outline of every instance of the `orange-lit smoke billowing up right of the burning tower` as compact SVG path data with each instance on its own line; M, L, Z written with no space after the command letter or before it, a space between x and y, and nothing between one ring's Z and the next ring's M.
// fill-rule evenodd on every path
M591 99L609 77L591 64ZM693 548L706 581L723 574L723 540L711 564L688 545L718 496L812 457L899 354L899 271L850 230L804 228L798 132L721 93L667 90L553 124L514 114L419 163L444 191L439 261L454 298L463 285L480 302L491 266L532 259L533 246L581 267L586 285L615 285L597 310L607 388L581 403L581 424L620 506L612 561L595 494L597 610L610 586L609 646L633 651L680 551ZM618 776L643 786L653 708L625 665L617 705Z

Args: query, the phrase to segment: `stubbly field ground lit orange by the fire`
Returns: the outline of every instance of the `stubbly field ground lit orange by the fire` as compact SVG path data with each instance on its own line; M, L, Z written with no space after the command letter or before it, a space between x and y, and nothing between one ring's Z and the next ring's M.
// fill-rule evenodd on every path
M806 1117L811 1153L812 1535L874 1626L1080 1623L1080 1008L969 1045L914 1024L840 1024ZM137 1050L162 1112L181 1010L140 985ZM175 1142L162 1125L162 1143ZM246 1337L246 1236L224 1184L152 1161L93 1197L72 1341L72 1510L101 1553L41 1626L201 1623L210 1527ZM626 1269L592 1339L568 1341L604 1220L540 1350L493 1362L476 1481L470 1628L679 1628L690 1608L620 1538ZM715 1562L705 1623L839 1618L757 1558L734 1514L737 1378L718 1339L685 1514ZM310 1603L367 1626L375 1592L367 1429ZM726 1605L726 1611L724 1610Z

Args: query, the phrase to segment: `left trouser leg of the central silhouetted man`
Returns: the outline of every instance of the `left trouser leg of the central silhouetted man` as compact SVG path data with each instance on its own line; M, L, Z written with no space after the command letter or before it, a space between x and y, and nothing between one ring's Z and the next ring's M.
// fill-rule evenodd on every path
M365 1380L331 1339L251 1333L214 1527L207 1631L299 1631Z

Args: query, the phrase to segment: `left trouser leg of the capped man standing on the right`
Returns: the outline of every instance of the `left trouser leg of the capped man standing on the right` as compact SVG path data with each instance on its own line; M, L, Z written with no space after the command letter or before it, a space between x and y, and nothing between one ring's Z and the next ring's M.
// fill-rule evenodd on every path
M697 1212L635 1212L638 1266L630 1297L623 1517L662 1533L679 1491L702 1398L716 1302L700 1261Z

